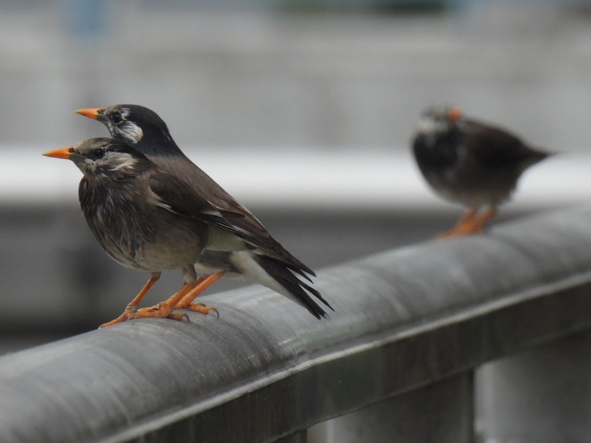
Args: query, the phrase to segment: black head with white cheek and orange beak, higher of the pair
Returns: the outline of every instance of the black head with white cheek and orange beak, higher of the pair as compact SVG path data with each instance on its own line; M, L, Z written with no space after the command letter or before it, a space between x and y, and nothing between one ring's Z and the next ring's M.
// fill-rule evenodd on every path
M153 110L139 105L114 105L108 108L79 109L80 115L103 123L113 138L132 145L142 142L171 141L164 120Z

